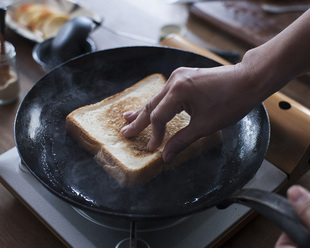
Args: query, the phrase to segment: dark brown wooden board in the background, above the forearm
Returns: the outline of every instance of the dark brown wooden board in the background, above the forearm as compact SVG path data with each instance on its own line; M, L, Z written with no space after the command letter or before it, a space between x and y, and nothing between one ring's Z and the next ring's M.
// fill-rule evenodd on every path
M296 4L304 4L308 0L295 0ZM302 12L271 14L261 8L262 1L207 1L195 3L190 7L192 14L223 31L258 46L281 32L297 19ZM290 3L292 1L276 1Z

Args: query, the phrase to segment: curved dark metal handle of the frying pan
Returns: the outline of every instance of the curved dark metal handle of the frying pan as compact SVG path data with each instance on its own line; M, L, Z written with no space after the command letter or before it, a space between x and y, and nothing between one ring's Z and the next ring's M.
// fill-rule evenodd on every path
M224 209L232 203L240 203L256 210L285 231L300 247L309 248L309 230L285 197L258 189L242 189L217 207Z

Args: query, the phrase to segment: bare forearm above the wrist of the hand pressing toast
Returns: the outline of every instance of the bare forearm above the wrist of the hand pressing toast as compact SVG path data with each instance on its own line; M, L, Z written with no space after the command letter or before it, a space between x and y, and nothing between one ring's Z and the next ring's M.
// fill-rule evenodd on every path
M310 69L310 11L242 59L249 85L261 101Z

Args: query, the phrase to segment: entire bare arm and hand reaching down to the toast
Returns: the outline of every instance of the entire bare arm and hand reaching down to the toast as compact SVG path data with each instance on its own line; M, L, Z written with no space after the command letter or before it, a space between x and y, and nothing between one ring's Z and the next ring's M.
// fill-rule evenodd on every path
M176 113L187 111L190 124L165 146L163 158L169 162L196 139L241 119L308 70L310 32L305 30L309 30L309 20L308 11L274 39L248 51L236 65L177 69L142 109L125 114L132 123L122 133L135 136L151 123L148 149L154 150L162 142L166 122Z

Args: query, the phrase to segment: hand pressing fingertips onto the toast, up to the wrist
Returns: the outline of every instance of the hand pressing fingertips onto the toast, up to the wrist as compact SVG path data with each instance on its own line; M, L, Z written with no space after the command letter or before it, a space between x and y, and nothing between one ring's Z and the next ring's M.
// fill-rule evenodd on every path
M163 151L163 159L169 163L191 143L241 119L259 103L250 97L255 87L247 85L247 74L240 64L179 68L141 109L124 114L130 124L121 133L136 136L151 124L147 148L153 151L162 144L166 123L185 110L191 116L189 125L171 137Z

